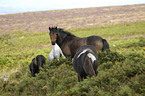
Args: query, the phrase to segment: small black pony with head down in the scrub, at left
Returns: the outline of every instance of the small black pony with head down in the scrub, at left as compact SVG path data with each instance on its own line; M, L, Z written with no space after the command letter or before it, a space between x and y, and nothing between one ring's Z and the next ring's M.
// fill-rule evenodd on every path
M32 59L29 68L33 77L35 77L36 73L39 73L40 67L44 68L43 64L45 64L45 57L43 55L38 55L36 58Z

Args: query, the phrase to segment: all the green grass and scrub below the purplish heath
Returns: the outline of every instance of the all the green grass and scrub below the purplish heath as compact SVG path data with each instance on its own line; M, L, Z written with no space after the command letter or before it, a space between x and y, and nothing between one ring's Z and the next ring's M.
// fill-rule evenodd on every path
M99 52L99 74L77 82L72 63L67 59L47 61L45 69L31 77L28 65L39 54L46 58L52 47L48 32L25 33L12 31L0 35L0 76L9 81L0 83L0 95L48 96L143 96L145 93L145 22L104 27L69 29L79 37L99 35L108 40L111 52Z

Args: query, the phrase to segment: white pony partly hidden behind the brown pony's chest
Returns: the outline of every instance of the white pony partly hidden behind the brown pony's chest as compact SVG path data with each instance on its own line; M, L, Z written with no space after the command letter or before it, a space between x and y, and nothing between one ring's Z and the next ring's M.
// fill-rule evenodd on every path
M55 45L53 46L53 49L49 53L48 60L50 61L50 60L53 60L53 59L58 59L61 56L64 57L60 47L57 45L57 43L55 43Z

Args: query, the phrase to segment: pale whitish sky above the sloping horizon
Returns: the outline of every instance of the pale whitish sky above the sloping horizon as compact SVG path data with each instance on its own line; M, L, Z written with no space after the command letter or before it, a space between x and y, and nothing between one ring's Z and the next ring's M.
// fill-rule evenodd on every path
M132 4L145 4L145 0L0 0L0 11L7 11L7 8L29 12Z

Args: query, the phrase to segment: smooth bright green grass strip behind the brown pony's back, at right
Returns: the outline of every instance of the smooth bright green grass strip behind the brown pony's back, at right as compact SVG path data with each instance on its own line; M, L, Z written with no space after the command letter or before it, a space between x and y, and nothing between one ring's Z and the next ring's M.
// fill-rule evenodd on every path
M72 33L80 37L89 35L98 35L101 37L124 37L130 35L145 34L144 32L145 22L124 23L118 25L109 25L104 27L90 27L90 28L78 28L70 30ZM83 33L83 34L80 34Z

